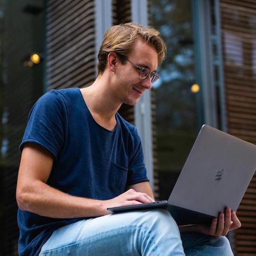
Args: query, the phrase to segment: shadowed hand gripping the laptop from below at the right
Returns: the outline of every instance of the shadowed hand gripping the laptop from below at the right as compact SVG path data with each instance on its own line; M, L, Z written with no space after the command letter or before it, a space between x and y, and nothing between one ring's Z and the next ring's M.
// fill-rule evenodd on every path
M236 212L231 211L230 208L226 209L225 214L221 213L218 218L213 218L211 226L196 225L196 230L209 236L227 236L230 230L241 227L241 222L236 216Z

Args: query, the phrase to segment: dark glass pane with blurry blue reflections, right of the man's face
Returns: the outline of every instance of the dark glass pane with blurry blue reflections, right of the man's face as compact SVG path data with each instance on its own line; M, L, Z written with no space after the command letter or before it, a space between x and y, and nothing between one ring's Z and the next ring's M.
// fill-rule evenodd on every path
M151 0L151 25L167 44L167 58L153 85L156 95L160 199L166 199L198 134L198 93L189 0ZM200 85L199 85L200 86ZM199 89L198 86L198 89Z

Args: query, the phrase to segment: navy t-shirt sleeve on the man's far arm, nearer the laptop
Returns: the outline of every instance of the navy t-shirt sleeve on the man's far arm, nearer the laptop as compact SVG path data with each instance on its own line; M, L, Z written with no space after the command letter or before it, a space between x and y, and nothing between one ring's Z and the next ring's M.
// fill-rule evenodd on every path
M144 163L143 148L137 129L135 130L133 140L133 152L131 154L132 157L129 160L128 166L128 185L133 185L143 181L149 181L147 177L147 170Z

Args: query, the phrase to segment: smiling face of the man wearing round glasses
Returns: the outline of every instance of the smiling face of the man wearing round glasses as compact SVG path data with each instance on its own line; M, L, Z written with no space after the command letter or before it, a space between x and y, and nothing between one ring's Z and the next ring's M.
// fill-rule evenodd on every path
M119 96L122 103L135 105L146 89L151 88L150 75L145 79L139 78L140 68L147 67L150 73L157 70L158 58L157 51L149 44L145 44L142 39L134 42L132 52L127 56L129 61L124 65L119 61L116 70ZM133 63L131 63L131 62Z

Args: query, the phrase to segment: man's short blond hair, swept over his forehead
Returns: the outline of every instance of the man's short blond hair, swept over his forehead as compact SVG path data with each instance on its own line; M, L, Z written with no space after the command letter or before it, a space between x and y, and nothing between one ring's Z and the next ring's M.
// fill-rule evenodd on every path
M116 52L122 64L131 52L134 41L142 38L157 51L158 66L166 57L166 44L160 37L160 32L150 26L141 26L136 23L125 23L112 26L105 32L104 40L98 54L98 74L102 74L106 68L108 54Z

